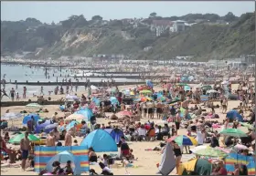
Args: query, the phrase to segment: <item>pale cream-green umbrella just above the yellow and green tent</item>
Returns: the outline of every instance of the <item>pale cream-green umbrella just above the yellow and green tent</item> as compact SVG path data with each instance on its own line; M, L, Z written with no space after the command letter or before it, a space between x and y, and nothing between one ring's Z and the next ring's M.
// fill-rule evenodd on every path
M211 147L207 147L206 149L202 150L197 150L194 153L199 156L206 156L212 158L225 158L226 156L228 156L228 154L225 153L224 151Z

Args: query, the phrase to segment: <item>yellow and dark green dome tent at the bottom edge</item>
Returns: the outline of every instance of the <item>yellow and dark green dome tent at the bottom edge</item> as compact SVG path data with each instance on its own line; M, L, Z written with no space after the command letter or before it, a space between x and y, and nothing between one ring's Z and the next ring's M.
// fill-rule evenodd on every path
M179 165L178 175L210 175L212 165L208 160L193 159Z

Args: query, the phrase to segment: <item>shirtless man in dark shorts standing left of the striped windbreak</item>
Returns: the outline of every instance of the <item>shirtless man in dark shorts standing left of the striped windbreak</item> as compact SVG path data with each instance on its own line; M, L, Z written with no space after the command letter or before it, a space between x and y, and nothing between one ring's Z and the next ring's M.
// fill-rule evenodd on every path
M26 161L28 157L28 151L30 150L29 140L28 140L28 132L25 132L25 138L20 140L20 150L22 156L21 168L22 171L25 171Z

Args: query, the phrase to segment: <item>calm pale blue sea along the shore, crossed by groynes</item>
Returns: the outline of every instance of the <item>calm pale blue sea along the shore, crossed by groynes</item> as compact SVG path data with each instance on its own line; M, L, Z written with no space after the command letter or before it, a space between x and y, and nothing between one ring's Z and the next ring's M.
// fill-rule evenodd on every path
M90 70L83 70L86 73L86 75L91 75ZM48 81L56 81L57 77L59 81L61 81L63 78L67 77L68 75L80 75L82 74L81 70L70 70L62 68L61 70L61 76L60 77L60 70L59 67L48 67L48 76L46 78L46 71L45 67L28 67L28 66L21 66L21 65L5 65L1 64L1 79L5 78L6 82L9 82L10 80L13 82L17 80L17 82L25 82L25 81L42 81L42 82L48 82ZM97 74L95 74L97 75ZM69 77L71 78L71 77ZM74 80L74 78L71 78ZM91 81L101 81L102 80L108 80L104 78L90 78ZM75 80L74 80L75 81ZM85 78L80 79L81 81L85 81ZM133 81L133 79L126 79L126 78L116 78L116 82L118 81ZM136 80L138 81L138 80ZM19 93L19 95L22 95L23 87L27 87L27 95L31 96L33 94L39 95L40 93L40 86L27 86L27 85L14 85L14 84L6 84L5 90L7 93L9 93L9 90L11 88L15 88L16 92ZM48 94L48 91L53 91L56 86L44 86L44 93ZM3 88L3 85L1 84L1 88ZM65 89L65 88L64 88ZM75 88L73 88L75 90ZM84 87L79 87L78 91L84 90Z

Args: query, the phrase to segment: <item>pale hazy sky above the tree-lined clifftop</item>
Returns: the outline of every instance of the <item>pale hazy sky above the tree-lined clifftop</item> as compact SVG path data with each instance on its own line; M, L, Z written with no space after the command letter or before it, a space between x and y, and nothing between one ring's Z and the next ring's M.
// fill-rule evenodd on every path
M184 16L189 13L214 13L219 16L232 12L240 16L255 10L255 2L1 2L1 20L19 21L35 17L51 23L67 19L71 15L83 15L87 19L100 15L104 19L147 17L156 12L159 16Z

